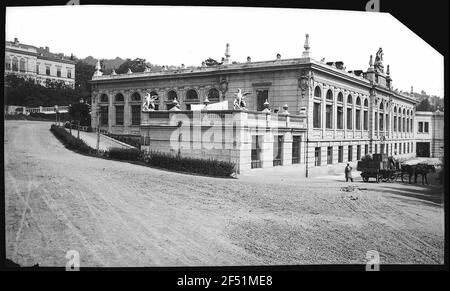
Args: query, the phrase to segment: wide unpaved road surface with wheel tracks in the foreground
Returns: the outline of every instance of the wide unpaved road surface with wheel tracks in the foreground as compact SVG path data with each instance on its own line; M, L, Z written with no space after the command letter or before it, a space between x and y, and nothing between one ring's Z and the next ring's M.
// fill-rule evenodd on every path
M171 173L65 149L50 123L5 122L6 255L21 265L442 264L437 186L286 172ZM354 186L354 188L353 188Z

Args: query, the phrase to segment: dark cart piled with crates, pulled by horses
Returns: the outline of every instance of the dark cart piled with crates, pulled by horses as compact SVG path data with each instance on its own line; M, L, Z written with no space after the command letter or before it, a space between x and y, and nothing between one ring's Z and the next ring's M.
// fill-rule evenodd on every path
M358 161L356 169L361 171L364 182L368 182L369 178L375 178L377 183L394 182L398 177L395 164L386 154L374 154L373 158L362 159Z

